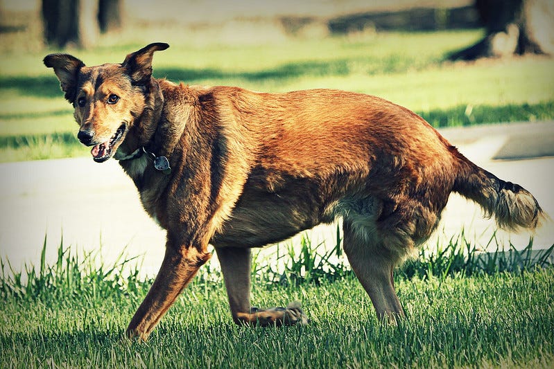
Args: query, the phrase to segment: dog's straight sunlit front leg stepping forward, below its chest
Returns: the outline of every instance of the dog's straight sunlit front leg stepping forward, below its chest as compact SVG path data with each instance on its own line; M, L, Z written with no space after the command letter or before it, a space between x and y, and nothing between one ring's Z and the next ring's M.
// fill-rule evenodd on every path
M200 251L196 247L175 246L168 242L162 267L159 268L146 298L132 317L127 336L146 341L148 334L210 257L211 253Z

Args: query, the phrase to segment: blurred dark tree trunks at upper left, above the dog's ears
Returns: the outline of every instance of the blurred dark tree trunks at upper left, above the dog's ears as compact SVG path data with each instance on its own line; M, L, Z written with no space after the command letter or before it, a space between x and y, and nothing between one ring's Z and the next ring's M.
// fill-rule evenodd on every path
M121 0L42 0L44 38L51 46L93 46L100 32L121 28L121 8Z

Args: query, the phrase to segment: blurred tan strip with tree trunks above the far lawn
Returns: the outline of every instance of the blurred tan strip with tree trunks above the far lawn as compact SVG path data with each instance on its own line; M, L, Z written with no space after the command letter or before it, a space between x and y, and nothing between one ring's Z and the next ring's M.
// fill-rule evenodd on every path
M0 7L3 47L17 50L45 44L88 48L101 43L102 35L136 35L137 29L150 28L241 43L378 30L485 28L481 44L454 55L462 59L552 53L554 46L554 6L548 0L2 0Z

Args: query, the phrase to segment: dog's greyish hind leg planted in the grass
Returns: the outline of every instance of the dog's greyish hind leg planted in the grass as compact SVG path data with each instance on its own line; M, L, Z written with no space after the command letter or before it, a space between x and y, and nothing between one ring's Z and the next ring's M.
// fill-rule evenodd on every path
M363 235L363 230L353 226L348 219L343 222L344 249L350 265L370 296L380 319L394 322L403 316L404 310L395 291L392 271L397 258L381 245L374 244L377 237Z

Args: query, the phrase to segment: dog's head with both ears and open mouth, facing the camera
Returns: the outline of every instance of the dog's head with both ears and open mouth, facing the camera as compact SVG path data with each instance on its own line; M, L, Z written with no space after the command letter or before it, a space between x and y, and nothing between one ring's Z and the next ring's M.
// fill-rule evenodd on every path
M65 98L75 108L77 137L92 146L94 161L110 159L146 105L152 80L152 57L168 44L155 43L125 57L121 64L85 66L76 57L51 54L44 64L54 69Z

